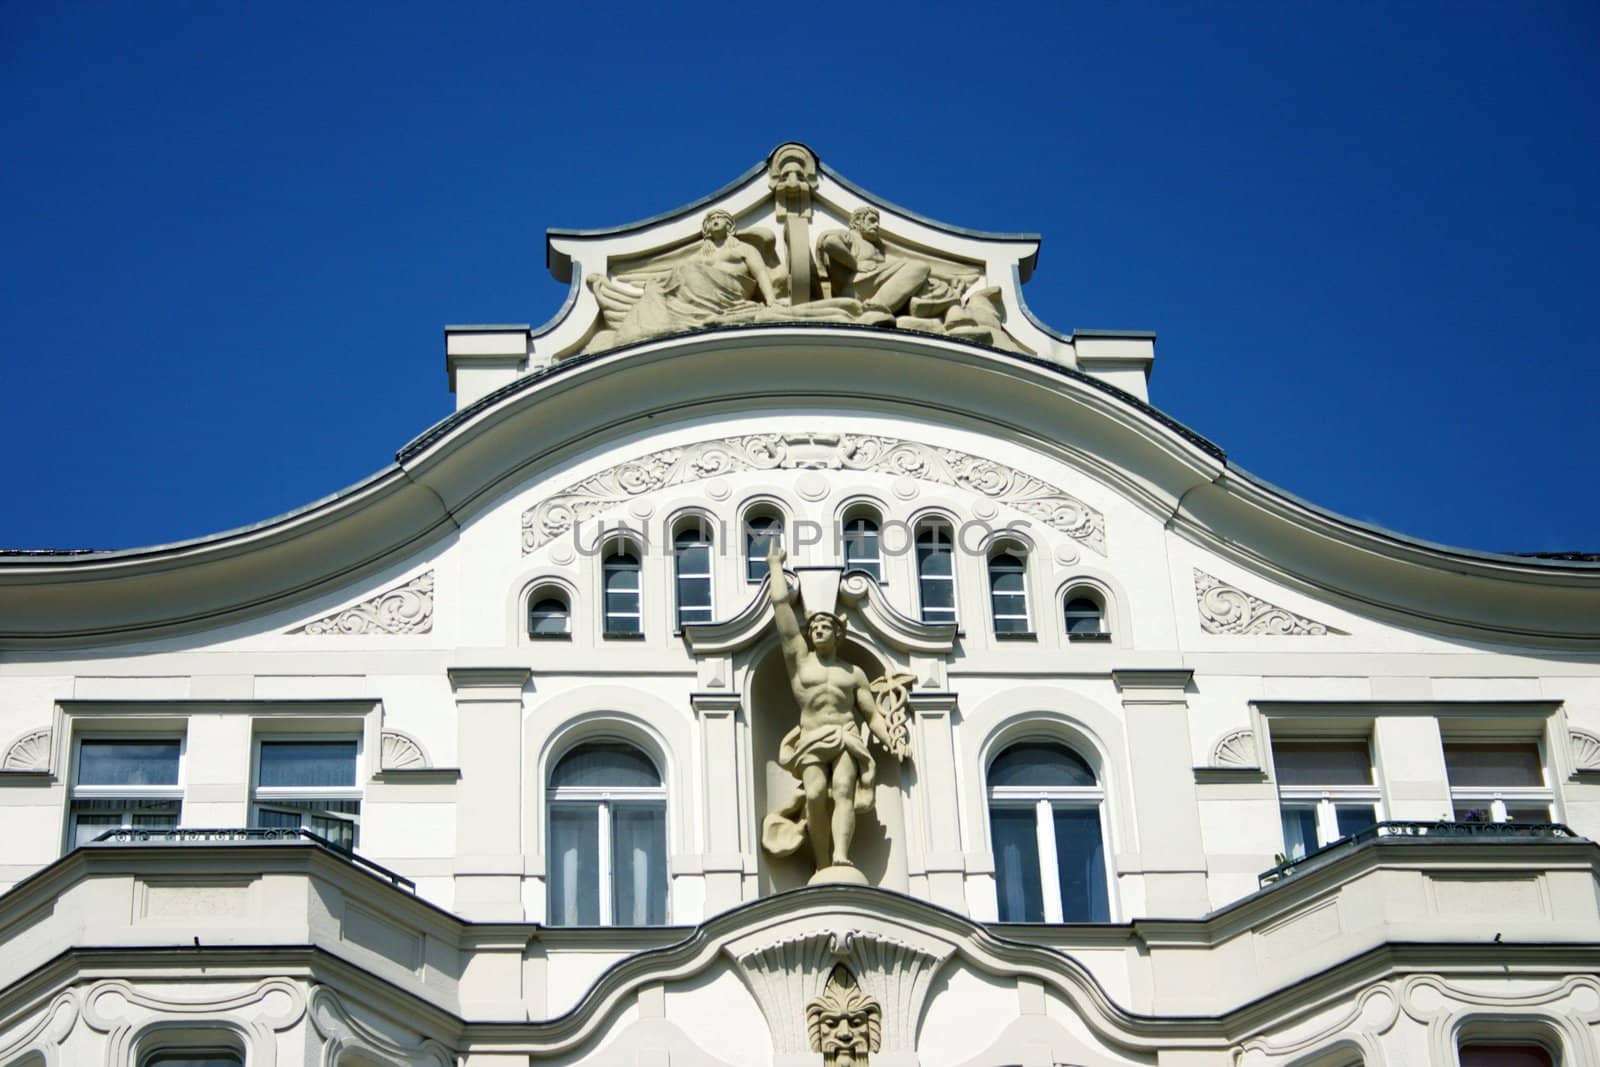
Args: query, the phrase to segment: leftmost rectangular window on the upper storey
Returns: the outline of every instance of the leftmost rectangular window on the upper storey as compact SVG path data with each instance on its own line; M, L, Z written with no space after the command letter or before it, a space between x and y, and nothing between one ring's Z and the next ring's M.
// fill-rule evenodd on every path
M182 741L82 737L72 779L69 841L106 830L170 830L182 811Z

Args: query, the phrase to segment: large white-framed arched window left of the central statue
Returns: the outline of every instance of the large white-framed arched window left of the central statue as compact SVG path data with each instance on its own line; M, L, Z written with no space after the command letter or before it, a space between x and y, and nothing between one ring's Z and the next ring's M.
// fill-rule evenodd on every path
M590 742L550 771L549 923L667 921L667 790L650 757Z

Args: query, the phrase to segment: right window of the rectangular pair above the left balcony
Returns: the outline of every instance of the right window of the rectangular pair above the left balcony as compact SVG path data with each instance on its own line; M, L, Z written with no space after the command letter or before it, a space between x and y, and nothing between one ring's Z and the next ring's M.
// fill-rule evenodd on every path
M304 829L339 848L360 841L360 744L350 741L259 741L253 825Z

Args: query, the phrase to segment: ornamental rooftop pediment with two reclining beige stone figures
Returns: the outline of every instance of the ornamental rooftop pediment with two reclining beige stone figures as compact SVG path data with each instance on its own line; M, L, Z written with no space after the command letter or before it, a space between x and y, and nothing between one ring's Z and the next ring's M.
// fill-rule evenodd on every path
M669 214L550 230L550 272L573 298L536 347L560 360L726 326L845 325L1061 357L1070 342L1021 299L1037 253L1030 234L918 218L851 186L806 146L784 144Z

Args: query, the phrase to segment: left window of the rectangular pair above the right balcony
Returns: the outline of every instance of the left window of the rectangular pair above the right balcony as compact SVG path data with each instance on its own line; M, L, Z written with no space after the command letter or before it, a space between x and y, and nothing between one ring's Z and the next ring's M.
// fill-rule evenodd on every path
M1378 822L1381 798L1365 737L1274 739L1272 765L1286 857L1301 859Z

